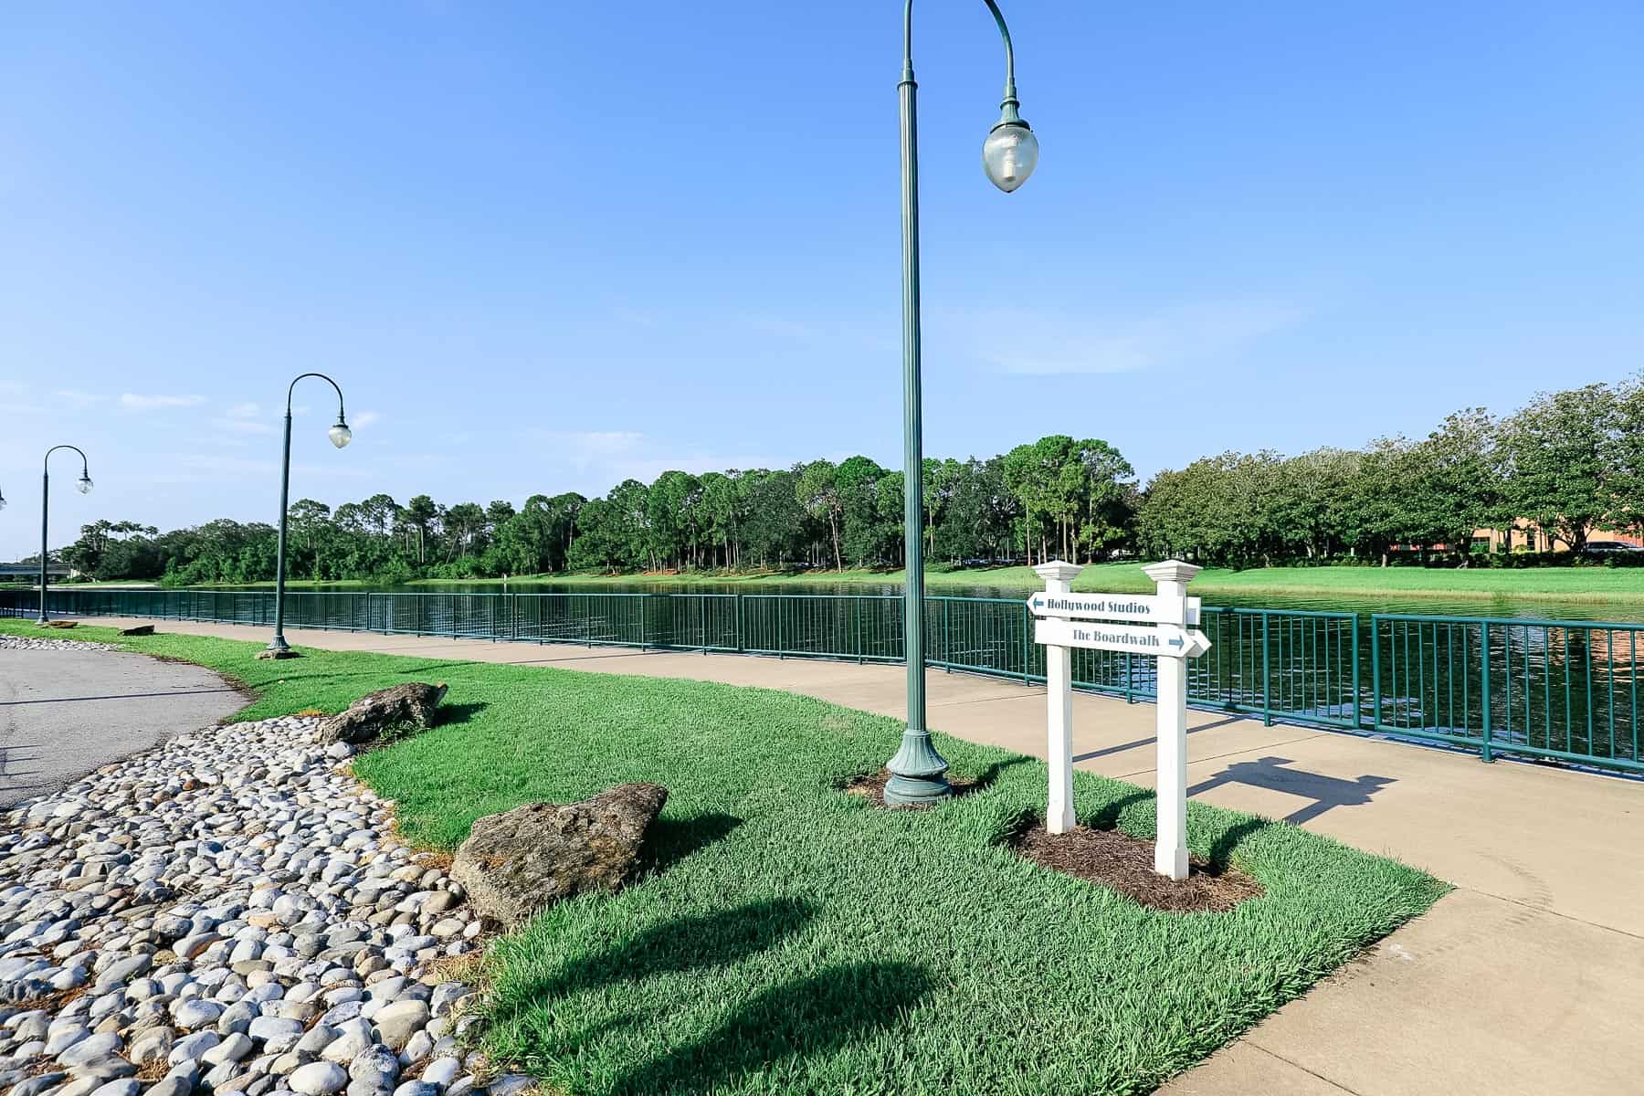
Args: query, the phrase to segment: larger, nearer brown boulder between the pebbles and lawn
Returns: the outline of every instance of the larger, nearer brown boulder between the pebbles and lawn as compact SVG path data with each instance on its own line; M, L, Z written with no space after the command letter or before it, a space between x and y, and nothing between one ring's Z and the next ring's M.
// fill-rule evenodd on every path
M580 804L526 804L473 823L450 877L475 912L516 927L552 902L621 887L667 789L621 784Z

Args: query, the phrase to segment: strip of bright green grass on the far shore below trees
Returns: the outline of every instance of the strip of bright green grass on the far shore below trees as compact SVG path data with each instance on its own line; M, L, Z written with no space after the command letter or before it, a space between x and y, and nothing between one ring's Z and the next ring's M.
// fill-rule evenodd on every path
M669 585L669 587L735 587L735 585L896 585L903 582L901 570L807 570L807 572L646 572L633 575L567 573L567 575L516 575L511 578L424 578L409 583L418 588L441 590L446 587L495 587L528 590L536 585ZM94 585L94 583L81 583ZM135 585L135 583L95 583ZM273 583L253 583L266 588ZM1037 590L1042 582L1031 567L993 567L970 570L927 570L926 588L931 593L996 588L1001 592ZM380 588L381 583L358 582L306 582L291 580L289 590L312 587L327 588ZM215 587L224 588L224 587ZM1074 583L1075 590L1111 590L1118 593L1144 593L1152 583L1141 572L1141 564L1092 564ZM1194 593L1200 596L1228 595L1343 595L1374 598L1394 595L1401 598L1539 598L1549 601L1628 601L1644 603L1644 567L1526 567L1509 569L1438 569L1438 567L1258 567L1231 570L1208 567L1194 580Z

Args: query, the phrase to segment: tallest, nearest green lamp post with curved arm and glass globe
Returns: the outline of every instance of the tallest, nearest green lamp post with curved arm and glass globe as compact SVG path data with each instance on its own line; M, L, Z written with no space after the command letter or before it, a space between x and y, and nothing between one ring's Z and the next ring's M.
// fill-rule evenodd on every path
M1000 120L981 145L981 164L996 187L1009 194L1039 163L1039 138L1018 113L1016 53L1011 31L995 0L983 0L1004 39L1004 102ZM947 761L931 743L924 693L924 439L919 393L919 85L914 82L914 0L903 8L903 534L907 585L903 592L903 641L907 652L907 728L901 749L886 762L891 779L884 802L935 804L949 795Z

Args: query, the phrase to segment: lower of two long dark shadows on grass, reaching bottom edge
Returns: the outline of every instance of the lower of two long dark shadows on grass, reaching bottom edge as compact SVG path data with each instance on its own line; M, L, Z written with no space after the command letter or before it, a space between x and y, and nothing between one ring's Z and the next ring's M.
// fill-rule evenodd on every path
M620 1076L612 1091L722 1091L776 1063L822 1055L903 1024L907 1009L932 988L931 974L909 963L824 968L756 994L709 1035Z

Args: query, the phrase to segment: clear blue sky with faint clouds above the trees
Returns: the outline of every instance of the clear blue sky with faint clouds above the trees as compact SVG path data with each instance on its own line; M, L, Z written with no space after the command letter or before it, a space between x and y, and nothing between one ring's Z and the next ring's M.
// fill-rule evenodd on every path
M1644 366L1644 5L1004 0L1039 169L981 173L981 3L914 13L935 457L1141 475L1425 434ZM894 0L0 5L0 559L901 463Z

